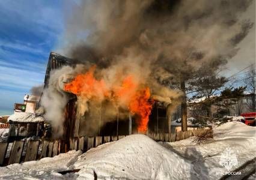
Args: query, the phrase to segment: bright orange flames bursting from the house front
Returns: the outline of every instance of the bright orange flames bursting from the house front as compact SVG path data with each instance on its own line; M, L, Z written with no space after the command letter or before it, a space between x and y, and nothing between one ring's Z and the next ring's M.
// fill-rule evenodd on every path
M132 75L126 76L120 85L106 86L103 79L94 77L96 67L91 67L86 73L78 74L71 82L64 86L64 90L72 92L88 100L98 98L109 99L125 104L129 112L136 116L139 133L146 133L148 116L153 101L150 101L150 89L135 82Z

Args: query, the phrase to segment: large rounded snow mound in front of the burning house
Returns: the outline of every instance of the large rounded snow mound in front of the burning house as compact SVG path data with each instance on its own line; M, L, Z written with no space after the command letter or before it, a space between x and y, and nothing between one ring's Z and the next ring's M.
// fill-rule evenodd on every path
M131 135L81 155L78 179L189 179L190 162L144 135Z

